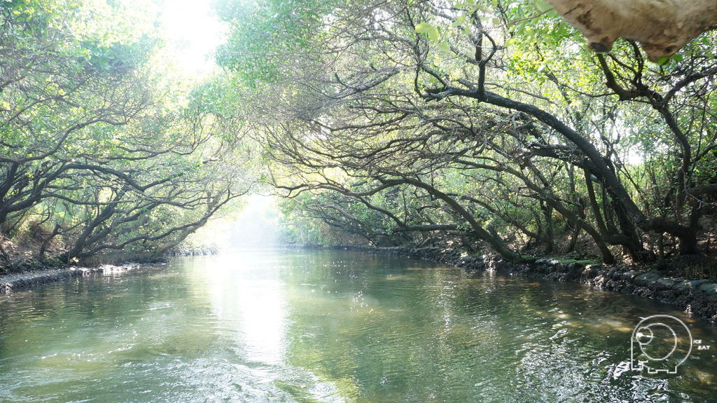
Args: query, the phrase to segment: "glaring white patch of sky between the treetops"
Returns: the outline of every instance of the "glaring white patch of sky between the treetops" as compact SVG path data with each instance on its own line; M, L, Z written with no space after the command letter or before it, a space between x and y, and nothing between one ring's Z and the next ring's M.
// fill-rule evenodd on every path
M211 0L165 0L163 29L179 65L189 74L214 67L214 51L223 42L224 29Z

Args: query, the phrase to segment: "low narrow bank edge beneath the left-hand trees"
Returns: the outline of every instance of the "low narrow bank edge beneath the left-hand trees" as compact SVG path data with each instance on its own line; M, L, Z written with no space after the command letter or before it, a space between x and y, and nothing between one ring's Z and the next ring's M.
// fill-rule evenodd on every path
M136 263L128 263L125 265L102 265L98 267L67 267L67 268L49 268L47 270L38 270L34 272L24 272L19 274L4 275L0 277L0 293L9 293L11 291L23 290L33 287L34 285L54 283L70 278L82 277L94 273L102 272L126 272L139 267L156 267L162 266L163 263L153 263L140 265Z

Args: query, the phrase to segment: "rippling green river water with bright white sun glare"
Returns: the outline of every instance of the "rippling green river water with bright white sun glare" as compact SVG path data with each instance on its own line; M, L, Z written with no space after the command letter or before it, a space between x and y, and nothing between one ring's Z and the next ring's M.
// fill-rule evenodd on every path
M630 370L640 318L711 350ZM246 252L0 295L0 402L717 402L717 330L581 285Z

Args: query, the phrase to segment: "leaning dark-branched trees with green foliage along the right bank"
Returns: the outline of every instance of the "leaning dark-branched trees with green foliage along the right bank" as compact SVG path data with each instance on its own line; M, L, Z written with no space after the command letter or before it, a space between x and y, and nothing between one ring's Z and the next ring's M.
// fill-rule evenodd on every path
M255 74L242 113L270 117L253 133L305 239L514 261L711 251L714 32L655 64L632 42L586 49L541 1L257 4L224 52L271 37L260 67L220 62Z

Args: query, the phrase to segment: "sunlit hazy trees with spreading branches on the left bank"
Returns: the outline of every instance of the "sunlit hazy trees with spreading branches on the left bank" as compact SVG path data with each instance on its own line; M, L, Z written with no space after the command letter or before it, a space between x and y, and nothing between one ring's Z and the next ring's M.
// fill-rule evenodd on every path
M11 247L62 262L159 256L246 191L223 158L232 136L214 136L236 128L183 105L153 65L161 41L122 13L92 1L0 6L5 264Z

